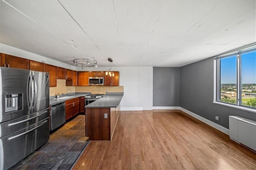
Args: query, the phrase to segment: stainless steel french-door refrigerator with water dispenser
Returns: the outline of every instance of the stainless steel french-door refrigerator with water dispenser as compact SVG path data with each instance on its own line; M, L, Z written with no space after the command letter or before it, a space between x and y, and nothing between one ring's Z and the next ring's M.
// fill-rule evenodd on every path
M49 139L49 73L0 67L0 169Z

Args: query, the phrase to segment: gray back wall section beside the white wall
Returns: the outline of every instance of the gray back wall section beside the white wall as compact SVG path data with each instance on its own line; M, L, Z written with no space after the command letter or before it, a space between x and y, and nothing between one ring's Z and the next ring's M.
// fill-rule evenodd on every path
M153 106L180 106L179 67L153 67Z

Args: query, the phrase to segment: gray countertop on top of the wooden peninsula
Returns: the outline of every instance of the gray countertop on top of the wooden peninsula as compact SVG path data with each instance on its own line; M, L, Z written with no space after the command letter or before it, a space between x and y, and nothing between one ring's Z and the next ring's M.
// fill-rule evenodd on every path
M118 107L124 93L106 93L106 95L89 105L85 108L104 108L104 107Z

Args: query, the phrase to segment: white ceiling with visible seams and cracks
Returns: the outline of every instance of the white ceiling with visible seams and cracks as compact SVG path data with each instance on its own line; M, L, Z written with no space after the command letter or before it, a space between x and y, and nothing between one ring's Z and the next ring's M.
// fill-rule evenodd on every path
M1 0L0 43L72 64L180 67L256 41L255 0Z

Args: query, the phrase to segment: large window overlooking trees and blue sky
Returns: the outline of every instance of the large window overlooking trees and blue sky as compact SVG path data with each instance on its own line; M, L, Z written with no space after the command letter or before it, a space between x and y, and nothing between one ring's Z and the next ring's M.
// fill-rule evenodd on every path
M256 43L216 56L216 101L256 109Z

